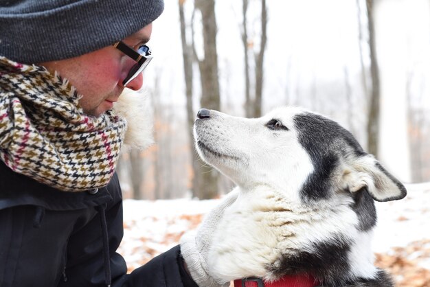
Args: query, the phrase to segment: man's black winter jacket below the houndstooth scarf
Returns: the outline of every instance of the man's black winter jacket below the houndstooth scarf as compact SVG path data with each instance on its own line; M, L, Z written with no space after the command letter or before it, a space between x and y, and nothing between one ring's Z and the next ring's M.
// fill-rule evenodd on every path
M97 192L60 192L0 161L0 287L197 287L175 246L131 274L117 176Z

